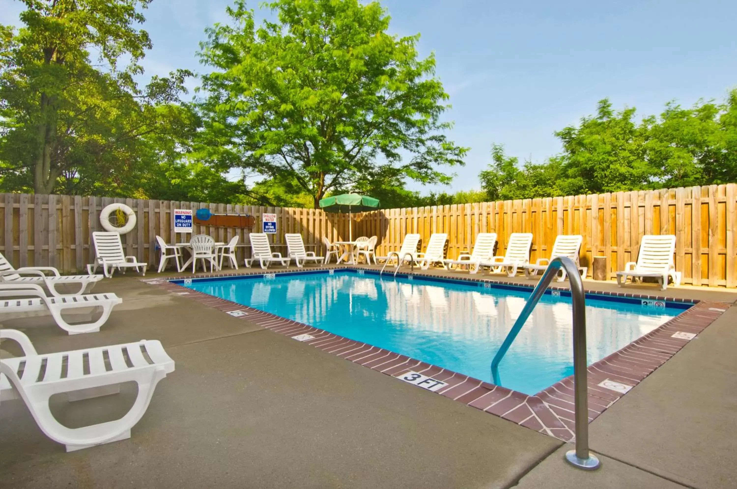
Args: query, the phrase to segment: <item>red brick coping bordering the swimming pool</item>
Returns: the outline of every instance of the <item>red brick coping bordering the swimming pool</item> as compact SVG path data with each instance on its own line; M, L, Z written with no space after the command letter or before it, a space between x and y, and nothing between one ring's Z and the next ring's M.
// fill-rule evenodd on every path
M352 268L360 270L360 267ZM343 267L313 267L304 271L307 270L345 269ZM290 272L301 271L303 270L276 271L276 273L289 274ZM385 373L388 376L402 376L409 371L414 371L422 373L424 376L444 381L447 385L436 391L440 395L460 401L470 407L481 409L484 412L490 412L493 415L500 416L520 426L534 429L537 432L545 433L559 440L573 441L575 432L575 422L573 421L573 376L562 379L535 395L527 395L507 389L506 387L489 384L489 382L455 373L436 365L430 365L409 356L400 355L399 353L394 353L383 348L377 348L367 343L349 340L337 334L279 317L269 312L259 311L258 309L234 303L230 300L216 298L203 292L187 289L178 284L172 284L169 281L186 280L187 278L264 275L265 273L274 272L270 270L259 270L258 272L248 270L217 275L150 278L142 279L142 281L160 286L174 293L187 292L186 297L197 300L204 306L220 309L223 312L243 311L246 314L240 316L240 319L248 320L256 326L261 326L284 336L295 337L300 334L310 334L314 339L304 341L304 343L312 345L315 348L320 348L328 353L341 356L344 359L371 368L372 370ZM412 275L439 278L438 275L425 272L415 272ZM450 280L486 282L489 284L533 288L532 285L509 284L508 282L471 276L458 277L457 279L453 278ZM550 288L568 292L568 289L565 287L551 286ZM674 338L672 337L673 334L678 332L699 334L731 306L729 303L690 301L628 292L587 291L587 293L646 300L695 303L694 306L671 318L671 320L668 320L649 334L588 367L589 422L597 418L598 415L601 415L602 412L606 411L624 395L624 393L609 390L606 387L600 387L599 384L609 380L635 387L640 381L649 376L691 341L677 337Z

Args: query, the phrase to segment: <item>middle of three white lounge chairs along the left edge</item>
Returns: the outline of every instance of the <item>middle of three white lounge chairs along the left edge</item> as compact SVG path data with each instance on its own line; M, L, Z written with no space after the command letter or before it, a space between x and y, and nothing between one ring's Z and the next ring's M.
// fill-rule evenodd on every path
M41 286L35 284L0 284L0 314L16 312L48 311L57 325L69 334L94 333L105 324L113 307L122 303L115 294L85 294L49 297ZM70 324L61 313L65 309L101 307L102 316L91 323Z

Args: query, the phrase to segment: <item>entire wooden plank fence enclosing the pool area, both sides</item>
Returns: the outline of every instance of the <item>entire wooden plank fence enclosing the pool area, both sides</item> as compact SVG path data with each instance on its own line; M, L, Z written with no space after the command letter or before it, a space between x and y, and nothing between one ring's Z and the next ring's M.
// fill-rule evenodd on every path
M559 234L581 234L581 262L606 256L609 278L635 261L644 234L675 234L676 269L684 284L737 287L737 185L689 187L613 194L506 200L503 202L385 209L354 216L353 236L379 236L378 255L399 250L407 233L420 233L424 249L431 233L448 233L446 256L469 250L477 233L498 235L503 254L509 234L533 233L531 258L548 258ZM102 231L99 212L110 203L125 203L136 213L136 228L123 236L127 255L150 265L158 263L155 236L168 243L188 241L175 236L173 209L207 208L213 214L249 214L261 229L262 214L276 214L274 244L284 233L301 233L306 244L321 239L348 239L348 216L303 208L275 208L168 200L113 199L69 195L2 194L0 250L16 267L51 266L82 272L91 263L94 231ZM248 244L248 229L194 225L195 233L228 242L236 234ZM285 248L275 248L286 253ZM239 248L242 263L245 249Z

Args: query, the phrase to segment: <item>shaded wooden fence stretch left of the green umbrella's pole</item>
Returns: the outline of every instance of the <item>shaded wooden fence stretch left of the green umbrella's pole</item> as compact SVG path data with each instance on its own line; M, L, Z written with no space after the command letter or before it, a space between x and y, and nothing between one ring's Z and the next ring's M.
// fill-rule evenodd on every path
M169 200L118 199L70 195L1 194L0 250L15 267L57 267L61 272L83 272L94 258L92 233L105 231L99 213L105 205L124 203L136 213L136 228L122 235L125 254L146 261L151 270L158 264L156 235L167 243L189 241L191 234L174 233L174 209L207 208L213 214L248 214L256 218L253 231L260 232L262 214L276 214L277 233L273 244L284 244L284 233L301 233L307 248L320 253L321 238L348 239L348 216L326 214L304 208L176 202ZM228 242L236 234L239 244L248 244L251 230L217 228L194 223L195 234L209 234L215 241ZM355 236L355 235L354 235ZM286 247L274 248L286 255ZM242 264L245 248L237 248ZM153 270L156 270L155 268Z

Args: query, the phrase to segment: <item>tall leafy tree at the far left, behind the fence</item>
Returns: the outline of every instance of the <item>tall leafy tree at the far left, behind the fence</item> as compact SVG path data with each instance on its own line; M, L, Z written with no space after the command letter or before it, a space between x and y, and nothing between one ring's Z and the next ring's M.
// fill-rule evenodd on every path
M135 191L153 164L149 136L175 137L191 114L176 106L189 71L133 77L151 43L135 24L150 0L24 0L24 27L1 27L3 186L37 193ZM91 54L98 54L98 66ZM120 58L130 60L119 68ZM155 152L154 152L155 153ZM134 188L131 189L130 187Z

